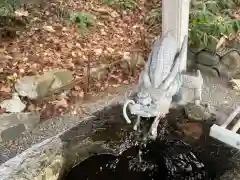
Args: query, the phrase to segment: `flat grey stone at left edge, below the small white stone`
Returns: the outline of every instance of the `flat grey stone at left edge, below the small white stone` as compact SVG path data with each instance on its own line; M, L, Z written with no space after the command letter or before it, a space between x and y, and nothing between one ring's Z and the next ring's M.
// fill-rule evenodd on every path
M14 140L24 131L30 131L40 122L35 113L4 113L0 115L0 142Z

